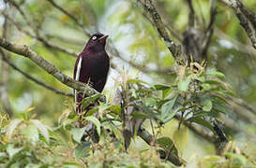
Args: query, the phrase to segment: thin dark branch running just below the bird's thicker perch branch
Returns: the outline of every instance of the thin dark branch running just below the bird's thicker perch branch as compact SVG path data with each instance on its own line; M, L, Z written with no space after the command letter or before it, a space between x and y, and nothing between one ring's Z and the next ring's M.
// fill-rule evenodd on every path
M73 93L68 93L68 92L65 92L65 91L58 91L56 89L54 89L53 87L51 87L50 85L47 85L46 83L38 80L37 78L35 77L32 77L30 76L29 74L23 72L23 70L21 70L19 67L17 67L15 64L13 63L10 63L7 56L5 55L4 51L2 49L0 49L0 53L2 54L2 57L3 57L3 61L5 61L6 63L8 63L9 66L11 66L13 69L15 69L16 71L18 71L19 73L21 73L24 77L27 77L28 79L34 81L35 83L37 83L38 85L46 88L47 90L50 90L50 91L53 91L57 94L62 94L62 95L66 95L66 96L69 96L69 97L73 97L74 94Z

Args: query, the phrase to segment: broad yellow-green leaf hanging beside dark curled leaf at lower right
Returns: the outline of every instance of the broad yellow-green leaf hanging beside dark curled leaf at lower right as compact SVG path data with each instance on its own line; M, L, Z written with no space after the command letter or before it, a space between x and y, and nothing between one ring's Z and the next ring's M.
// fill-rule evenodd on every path
M181 125L180 129L176 129L173 133L174 145L179 151L182 151L188 144L188 127Z

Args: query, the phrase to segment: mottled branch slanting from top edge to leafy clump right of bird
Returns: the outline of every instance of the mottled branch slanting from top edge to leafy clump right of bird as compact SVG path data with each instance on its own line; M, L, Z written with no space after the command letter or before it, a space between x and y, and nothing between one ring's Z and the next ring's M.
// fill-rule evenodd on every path
M162 38L165 46L171 51L175 59L181 55L181 46L175 45L173 39L168 35L164 23L158 14L157 8L153 5L152 0L138 0L142 4L143 9L149 14L153 26L158 30L158 34Z

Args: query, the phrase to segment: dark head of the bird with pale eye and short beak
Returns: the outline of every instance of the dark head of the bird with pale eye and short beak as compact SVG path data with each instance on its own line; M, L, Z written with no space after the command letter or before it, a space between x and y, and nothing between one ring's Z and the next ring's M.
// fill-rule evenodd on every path
M106 39L109 35L103 35L96 33L90 37L88 40L85 49L105 49Z

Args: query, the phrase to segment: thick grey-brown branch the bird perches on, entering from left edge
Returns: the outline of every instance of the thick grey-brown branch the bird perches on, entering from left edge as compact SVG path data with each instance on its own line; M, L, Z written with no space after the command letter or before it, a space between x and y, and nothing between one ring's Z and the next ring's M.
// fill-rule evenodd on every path
M67 75L63 74L52 63L49 63L48 61L40 57L37 52L28 48L25 45L15 45L8 42L5 38L0 38L0 46L3 47L4 49L8 49L11 52L27 57L34 63L38 64L38 66L44 69L47 73L49 73L50 75L52 75L53 77L55 77L60 82L62 82L63 84L67 85L70 88L73 88L78 91L83 91L84 94L87 96L91 96L97 93L99 94L98 91L95 91L94 89L89 87L87 84L83 84L82 82L76 81L71 77L68 77ZM101 102L106 102L106 98L104 95L102 95L99 100Z

